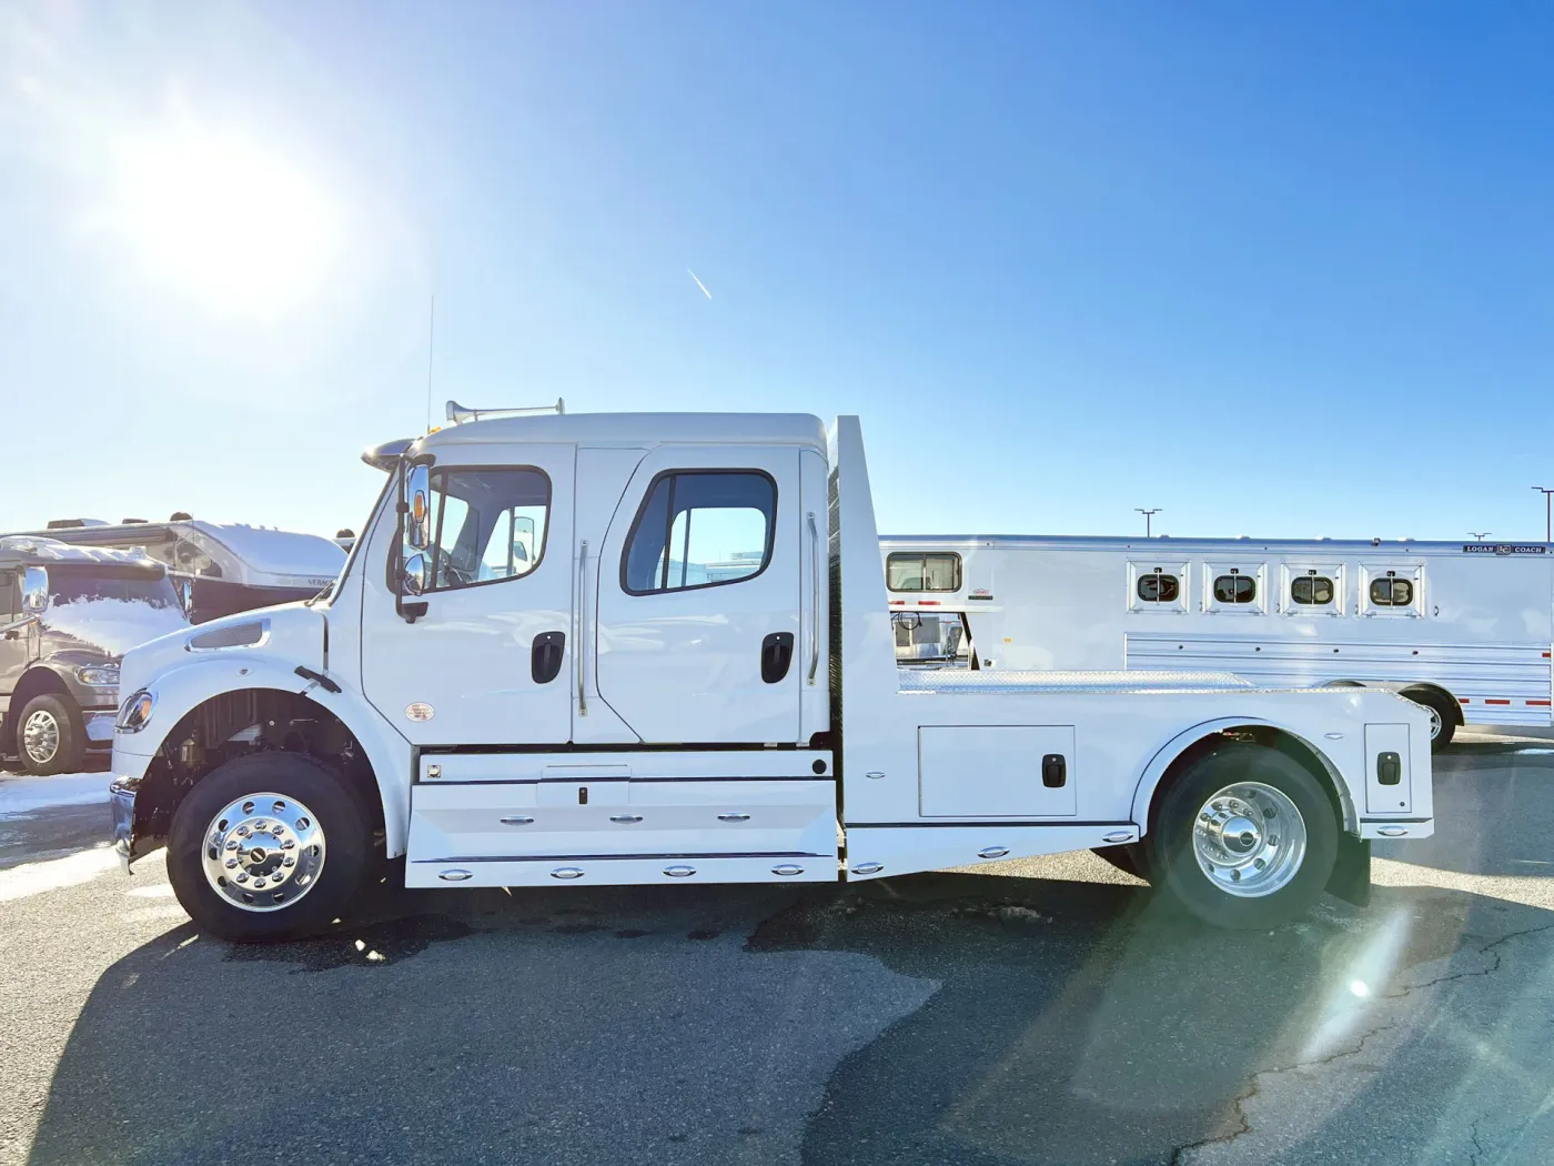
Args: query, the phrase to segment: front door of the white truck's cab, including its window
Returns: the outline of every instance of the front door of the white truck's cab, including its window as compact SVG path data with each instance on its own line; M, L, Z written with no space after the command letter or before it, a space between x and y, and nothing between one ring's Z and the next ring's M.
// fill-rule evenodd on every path
M572 731L570 445L438 451L426 614L395 616L393 515L373 530L362 689L415 745L550 745Z

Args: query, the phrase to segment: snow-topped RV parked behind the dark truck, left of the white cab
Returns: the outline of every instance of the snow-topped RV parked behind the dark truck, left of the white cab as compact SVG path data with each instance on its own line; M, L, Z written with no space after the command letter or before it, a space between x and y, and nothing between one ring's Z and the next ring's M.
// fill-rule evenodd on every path
M238 611L312 599L334 583L345 552L333 539L242 522L205 522L176 513L166 522L56 519L47 538L82 547L143 547L190 591L196 623Z

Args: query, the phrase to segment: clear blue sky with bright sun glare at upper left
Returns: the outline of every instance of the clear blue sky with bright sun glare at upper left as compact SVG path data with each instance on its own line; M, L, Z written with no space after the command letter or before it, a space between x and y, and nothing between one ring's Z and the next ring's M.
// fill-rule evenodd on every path
M884 530L1535 538L1551 51L1510 3L12 5L0 530L357 525L435 294L438 414L856 412Z

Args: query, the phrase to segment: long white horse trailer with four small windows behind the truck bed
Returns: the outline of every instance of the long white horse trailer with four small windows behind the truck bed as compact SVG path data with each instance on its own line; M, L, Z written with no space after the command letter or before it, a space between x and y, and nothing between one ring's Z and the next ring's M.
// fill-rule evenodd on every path
M1545 543L926 535L881 550L903 665L1383 687L1425 706L1437 748L1464 723L1551 723Z

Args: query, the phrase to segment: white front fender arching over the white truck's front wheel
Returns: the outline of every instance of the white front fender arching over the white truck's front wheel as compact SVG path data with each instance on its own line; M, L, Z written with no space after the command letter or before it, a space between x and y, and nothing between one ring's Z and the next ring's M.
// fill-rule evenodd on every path
M298 676L283 661L255 656L222 656L196 659L159 673L148 687L155 693L157 707L151 723L140 732L113 732L113 773L140 777L162 748L168 734L194 709L213 696L242 689L274 689L306 695L328 709L350 731L367 754L378 780L378 798L384 812L384 838L388 857L404 854L410 808L410 743L351 690L329 692L317 681Z

